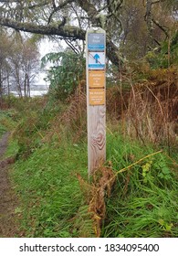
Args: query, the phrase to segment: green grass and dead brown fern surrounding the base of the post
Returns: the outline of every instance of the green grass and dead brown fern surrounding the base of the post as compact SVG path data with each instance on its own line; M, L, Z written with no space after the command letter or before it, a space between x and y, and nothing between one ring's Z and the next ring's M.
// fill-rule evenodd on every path
M176 237L177 164L108 133L107 163L87 176L87 144L44 144L16 163L27 237Z

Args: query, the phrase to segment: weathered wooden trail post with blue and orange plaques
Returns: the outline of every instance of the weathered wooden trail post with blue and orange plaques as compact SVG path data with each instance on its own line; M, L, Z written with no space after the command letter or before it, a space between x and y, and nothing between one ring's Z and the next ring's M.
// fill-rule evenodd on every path
M89 175L106 160L106 32L90 27L86 34Z

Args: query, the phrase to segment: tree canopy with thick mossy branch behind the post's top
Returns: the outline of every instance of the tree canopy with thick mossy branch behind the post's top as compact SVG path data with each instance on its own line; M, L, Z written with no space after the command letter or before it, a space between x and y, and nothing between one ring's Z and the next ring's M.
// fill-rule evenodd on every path
M0 25L71 44L84 41L88 27L102 27L107 57L118 66L121 55L141 58L170 37L177 10L177 0L0 0Z

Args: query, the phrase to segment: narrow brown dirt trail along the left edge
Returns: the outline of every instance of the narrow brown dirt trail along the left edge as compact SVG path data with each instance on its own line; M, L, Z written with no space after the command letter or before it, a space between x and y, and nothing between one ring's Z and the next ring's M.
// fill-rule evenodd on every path
M16 226L16 197L9 180L9 164L14 160L2 160L7 147L9 133L0 139L0 238L13 238L17 236Z

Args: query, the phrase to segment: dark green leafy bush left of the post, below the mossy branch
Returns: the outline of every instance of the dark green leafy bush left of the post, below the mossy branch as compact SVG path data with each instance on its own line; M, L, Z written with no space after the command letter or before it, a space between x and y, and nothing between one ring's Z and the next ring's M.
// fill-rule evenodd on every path
M53 99L65 101L77 86L84 75L85 59L70 50L58 53L48 53L41 59L42 67L48 62L52 67L48 69L49 95Z

